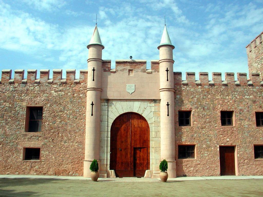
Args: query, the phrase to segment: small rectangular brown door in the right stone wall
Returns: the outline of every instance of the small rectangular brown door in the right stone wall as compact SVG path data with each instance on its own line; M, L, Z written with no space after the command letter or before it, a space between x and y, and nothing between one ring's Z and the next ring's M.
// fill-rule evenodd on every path
M220 175L236 175L235 171L235 147L220 146Z

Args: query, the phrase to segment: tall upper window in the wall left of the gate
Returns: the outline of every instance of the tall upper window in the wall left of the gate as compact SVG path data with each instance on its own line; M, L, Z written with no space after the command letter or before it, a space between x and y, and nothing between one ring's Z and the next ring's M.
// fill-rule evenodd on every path
M27 107L26 132L41 132L43 107Z

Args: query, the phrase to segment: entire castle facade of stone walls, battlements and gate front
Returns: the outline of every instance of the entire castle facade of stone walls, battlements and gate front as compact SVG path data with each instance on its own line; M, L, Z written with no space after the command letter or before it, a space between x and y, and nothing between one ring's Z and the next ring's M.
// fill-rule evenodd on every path
M27 79L24 70L15 70L14 79L11 70L3 70L0 173L88 176L88 163L98 159L100 177L112 177L112 123L125 112L135 112L150 128L146 177L159 176L163 158L173 166L169 173L174 176L219 176L220 146L234 146L236 175L263 175L263 159L254 158L254 145L263 146L263 127L256 126L255 118L255 112L263 112L262 34L247 46L249 79L237 73L237 81L234 73L225 73L225 81L218 72L212 73L211 81L206 72L199 73L199 80L193 72L186 73L186 80L180 72L168 76L164 69L172 70L173 47L167 43L158 47L162 61L152 60L149 70L145 60L116 60L111 69L110 60L100 60L100 44L88 45L89 67L80 71L80 79L75 79L75 70L67 70L66 79L59 69L53 70L53 79L49 70L40 70L40 79L36 70L28 70ZM252 47L253 43L257 44ZM127 84L135 84L132 94ZM99 105L92 105L91 111L93 101ZM41 132L25 132L27 107L33 106L43 107ZM166 117L169 106L174 107ZM179 126L178 111L191 111L191 126ZM233 111L231 126L221 126L221 111ZM180 145L195 145L194 158L179 159ZM40 159L24 160L24 148L34 147L41 148Z

